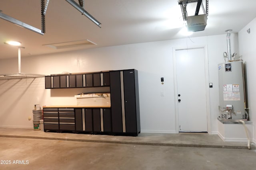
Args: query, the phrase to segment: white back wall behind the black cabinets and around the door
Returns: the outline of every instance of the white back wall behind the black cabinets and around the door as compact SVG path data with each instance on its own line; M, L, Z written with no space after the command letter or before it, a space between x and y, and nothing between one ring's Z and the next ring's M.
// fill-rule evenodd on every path
M232 49L237 46L236 34L231 36ZM22 58L25 73L59 74L62 72L96 72L135 68L138 70L140 123L142 132L175 133L175 98L173 48L207 46L210 90L211 130L217 133L218 70L227 51L226 34L208 37L138 43L113 47L86 49ZM238 53L238 51L236 51ZM15 57L15 56L14 56ZM0 73L18 72L18 59L0 61ZM164 85L160 78L164 77ZM74 95L84 89L44 89L44 78L0 80L0 127L33 126L34 104L76 105ZM164 92L164 97L160 96Z

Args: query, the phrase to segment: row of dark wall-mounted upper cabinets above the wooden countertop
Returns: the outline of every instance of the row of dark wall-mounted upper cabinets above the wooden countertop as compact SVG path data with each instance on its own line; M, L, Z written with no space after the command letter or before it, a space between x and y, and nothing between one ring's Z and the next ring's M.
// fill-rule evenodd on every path
M45 76L45 88L84 88L110 86L109 72L56 74Z

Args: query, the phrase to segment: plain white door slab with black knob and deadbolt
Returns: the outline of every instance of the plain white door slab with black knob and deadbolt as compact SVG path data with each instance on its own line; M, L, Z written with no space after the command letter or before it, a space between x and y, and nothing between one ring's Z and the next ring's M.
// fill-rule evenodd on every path
M176 50L179 131L207 132L204 48Z

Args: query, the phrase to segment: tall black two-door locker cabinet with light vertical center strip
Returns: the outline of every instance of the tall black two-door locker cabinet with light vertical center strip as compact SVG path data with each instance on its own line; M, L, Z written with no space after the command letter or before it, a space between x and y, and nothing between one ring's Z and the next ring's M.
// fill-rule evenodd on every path
M138 136L140 106L138 71L110 71L112 132Z

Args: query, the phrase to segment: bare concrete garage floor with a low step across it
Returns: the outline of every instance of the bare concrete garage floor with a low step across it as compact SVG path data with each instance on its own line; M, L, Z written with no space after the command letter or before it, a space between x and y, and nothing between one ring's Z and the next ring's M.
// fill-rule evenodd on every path
M255 170L255 145L246 148L208 134L123 137L0 128L0 169Z

